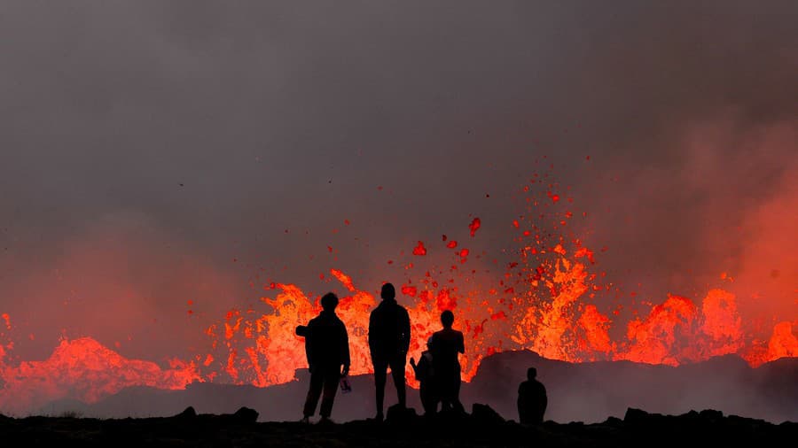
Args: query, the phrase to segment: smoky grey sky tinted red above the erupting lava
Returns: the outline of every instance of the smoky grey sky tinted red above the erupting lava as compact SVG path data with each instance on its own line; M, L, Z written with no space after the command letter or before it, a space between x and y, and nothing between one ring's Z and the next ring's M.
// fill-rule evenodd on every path
M658 303L727 271L742 310L794 320L795 23L792 1L3 2L0 313L32 357L181 355L262 282L376 290L472 216L501 251L546 156L613 282Z

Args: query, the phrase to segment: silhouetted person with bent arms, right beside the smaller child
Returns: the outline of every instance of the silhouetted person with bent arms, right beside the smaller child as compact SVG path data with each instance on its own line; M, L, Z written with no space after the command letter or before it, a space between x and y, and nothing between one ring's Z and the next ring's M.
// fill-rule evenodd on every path
M452 329L454 313L449 310L441 313L443 329L434 332L430 341L432 352L435 390L441 399L441 410L454 409L465 413L460 403L460 361L458 353L465 353L463 333Z

